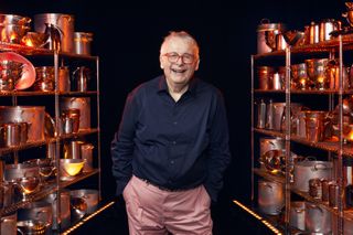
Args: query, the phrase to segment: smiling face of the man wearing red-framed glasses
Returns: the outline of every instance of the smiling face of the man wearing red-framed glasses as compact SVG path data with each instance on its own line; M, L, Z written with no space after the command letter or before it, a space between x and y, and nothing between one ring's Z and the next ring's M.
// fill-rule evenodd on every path
M185 85L199 68L194 44L186 39L172 38L165 42L160 65L169 84Z

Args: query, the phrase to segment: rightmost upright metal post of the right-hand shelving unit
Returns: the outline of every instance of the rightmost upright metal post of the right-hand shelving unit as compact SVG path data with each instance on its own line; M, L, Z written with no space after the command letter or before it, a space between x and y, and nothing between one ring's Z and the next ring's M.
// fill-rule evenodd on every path
M338 203L339 209L339 217L338 217L338 234L343 234L343 199L344 199L344 181L343 181L343 46L342 46L342 35L339 35L339 56L340 56L340 73L339 73L339 140L340 140L340 148L339 148L339 156L338 156L338 169L336 169L336 177L338 177L338 184L339 184L339 195L340 200Z

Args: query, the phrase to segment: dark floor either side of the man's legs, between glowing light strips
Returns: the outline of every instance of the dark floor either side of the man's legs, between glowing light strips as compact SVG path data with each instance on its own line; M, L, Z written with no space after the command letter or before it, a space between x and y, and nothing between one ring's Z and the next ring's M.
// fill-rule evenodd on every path
M246 213L232 201L213 206L212 217L214 222L214 235L274 234L261 222L255 220L254 216ZM126 214L124 210L121 210L116 203L115 205L103 211L99 215L89 220L72 234L128 235Z

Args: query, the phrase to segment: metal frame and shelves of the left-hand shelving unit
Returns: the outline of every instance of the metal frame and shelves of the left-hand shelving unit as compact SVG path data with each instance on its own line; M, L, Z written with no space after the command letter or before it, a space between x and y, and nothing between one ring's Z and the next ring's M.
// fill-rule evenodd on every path
M35 66L36 60L40 58L41 63L45 64L45 66L53 66L55 70L55 90L53 92L38 92L38 90L11 90L11 92L0 92L0 100L1 98L7 98L6 102L2 103L7 106L18 106L18 105L26 105L26 102L31 98L31 102L35 105L45 106L50 109L54 115L53 119L55 120L55 130L57 131L60 127L58 119L61 118L61 98L65 97L87 97L90 100L90 119L93 120L89 128L79 129L78 132L73 133L57 133L53 137L46 137L44 140L39 141L30 141L23 145L19 145L15 147L7 147L0 148L0 160L11 159L14 163L19 162L19 153L25 153L26 151L32 150L44 150L43 147L46 147L49 143L55 143L55 158L53 159L56 168L56 175L54 179L45 181L43 185L40 186L40 190L29 194L25 200L17 201L9 206L0 207L0 218L7 216L11 213L14 213L19 209L26 206L28 204L42 200L51 193L56 193L57 199L60 199L60 192L69 189L73 186L74 189L77 186L85 188L86 182L84 180L92 181L89 186L94 185L94 189L98 191L98 204L101 201L101 170L100 170L100 117L99 117L99 57L98 56L88 56L88 55L78 55L72 53L62 53L55 52L46 49L34 49L24 45L10 44L0 42L0 52L15 52L25 56L32 64ZM89 66L92 70L92 77L88 85L87 92L58 92L58 67L60 64L65 64L68 66L77 66L79 64L84 64L85 66ZM74 67L71 67L71 71ZM69 75L71 76L71 75ZM33 104L30 105L33 105ZM62 181L60 179L61 164L60 159L63 158L63 143L64 141L75 140L81 138L89 139L89 142L94 145L94 170L89 172L81 172L79 174L73 177L69 181ZM40 158L46 158L46 153L41 154ZM25 156L21 158L21 161L33 159L31 156ZM53 227L53 231L50 231L50 234L60 234L65 231L71 231L72 226L75 226L77 223L82 223L81 221L85 221L86 216L82 217L81 221L75 221L71 224L69 227L61 227L60 226L60 217L61 217L61 200L56 200L56 214L53 215L53 224L58 224L56 228ZM97 207L98 210L98 207ZM54 213L54 212L53 212ZM1 223L0 223L1 229ZM0 232L1 233L1 232Z

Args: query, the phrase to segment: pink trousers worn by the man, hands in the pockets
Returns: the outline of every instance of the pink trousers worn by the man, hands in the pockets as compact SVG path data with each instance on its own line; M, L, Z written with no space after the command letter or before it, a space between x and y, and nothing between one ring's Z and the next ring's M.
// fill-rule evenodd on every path
M212 235L211 199L203 185L169 192L132 177L122 195L130 235Z

